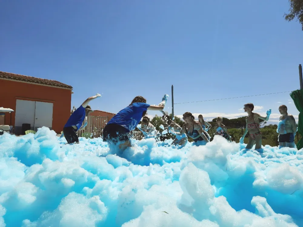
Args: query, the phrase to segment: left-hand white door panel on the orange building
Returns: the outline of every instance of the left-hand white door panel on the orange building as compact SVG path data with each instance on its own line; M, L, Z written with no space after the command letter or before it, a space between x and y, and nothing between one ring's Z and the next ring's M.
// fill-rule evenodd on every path
M22 127L22 124L24 123L31 124L31 127L34 127L35 104L35 101L16 100L15 128Z

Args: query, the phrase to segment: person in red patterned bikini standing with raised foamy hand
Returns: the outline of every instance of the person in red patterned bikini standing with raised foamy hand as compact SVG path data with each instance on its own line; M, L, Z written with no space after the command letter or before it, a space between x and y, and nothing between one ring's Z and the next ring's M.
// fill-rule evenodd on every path
M252 111L254 110L254 104L252 103L247 103L244 105L244 111L248 113L248 117L246 117L246 128L243 133L243 136L240 138L240 143L244 142L244 137L246 134L249 132L249 140L246 146L246 149L251 149L254 144L256 144L255 149L260 149L262 145L262 134L260 131L260 122L259 119L261 120L268 120L269 115L271 114L271 109L267 110L266 112L266 117L261 117L260 114L258 113L253 113Z

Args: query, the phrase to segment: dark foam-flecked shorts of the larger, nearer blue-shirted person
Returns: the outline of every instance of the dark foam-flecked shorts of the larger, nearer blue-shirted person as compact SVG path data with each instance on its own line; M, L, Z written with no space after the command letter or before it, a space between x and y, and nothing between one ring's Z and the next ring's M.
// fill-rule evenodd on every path
M103 129L103 141L112 142L114 144L117 144L118 142L128 141L128 132L129 131L121 125L107 124Z

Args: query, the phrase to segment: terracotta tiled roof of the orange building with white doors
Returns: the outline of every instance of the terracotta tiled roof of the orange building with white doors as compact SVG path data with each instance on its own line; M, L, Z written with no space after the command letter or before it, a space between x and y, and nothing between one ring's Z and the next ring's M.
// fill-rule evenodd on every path
M65 88L69 88L69 89L73 88L72 86L63 84L59 81L41 79L41 78L37 78L37 77L30 77L30 76L0 71L0 79L1 78L15 80L15 81L25 81L25 82L35 83L35 84L51 85L51 86L55 86L55 87L65 87Z

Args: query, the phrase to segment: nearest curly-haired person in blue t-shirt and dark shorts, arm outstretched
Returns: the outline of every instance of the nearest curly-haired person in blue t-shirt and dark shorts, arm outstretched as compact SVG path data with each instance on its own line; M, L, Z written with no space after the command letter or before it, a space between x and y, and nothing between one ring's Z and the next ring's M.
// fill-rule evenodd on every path
M103 141L115 145L119 143L122 150L131 146L127 134L137 127L141 118L147 114L147 110L163 110L167 97L168 95L164 95L158 106L146 104L146 99L142 96L135 97L128 107L120 110L107 123L103 130Z

